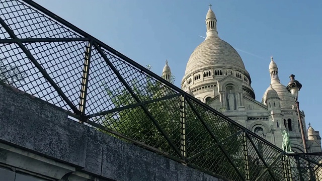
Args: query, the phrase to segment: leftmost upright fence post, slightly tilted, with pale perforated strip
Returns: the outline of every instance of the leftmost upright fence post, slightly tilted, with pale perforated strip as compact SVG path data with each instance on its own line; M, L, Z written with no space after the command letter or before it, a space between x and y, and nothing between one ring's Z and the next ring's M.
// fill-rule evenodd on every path
M88 91L88 83L89 83L89 75L90 75L90 67L91 67L92 46L93 46L93 40L88 42L88 46L86 48L85 56L84 56L84 69L83 69L83 76L82 76L81 95L79 95L79 111L81 111L82 115L85 115L85 110L86 110L87 91ZM79 120L79 122L84 123L84 120Z

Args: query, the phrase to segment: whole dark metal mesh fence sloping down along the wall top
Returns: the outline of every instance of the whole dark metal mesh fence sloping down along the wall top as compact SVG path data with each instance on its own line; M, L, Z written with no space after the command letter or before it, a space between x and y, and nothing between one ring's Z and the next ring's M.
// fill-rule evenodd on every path
M224 180L320 180L287 154L29 0L0 2L0 81Z

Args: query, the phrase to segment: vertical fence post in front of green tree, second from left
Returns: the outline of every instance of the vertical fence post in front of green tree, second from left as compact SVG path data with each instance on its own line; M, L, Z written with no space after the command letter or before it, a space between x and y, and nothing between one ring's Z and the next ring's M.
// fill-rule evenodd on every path
M180 151L185 159L185 163L188 164L187 160L187 146L186 146L186 96L180 96Z

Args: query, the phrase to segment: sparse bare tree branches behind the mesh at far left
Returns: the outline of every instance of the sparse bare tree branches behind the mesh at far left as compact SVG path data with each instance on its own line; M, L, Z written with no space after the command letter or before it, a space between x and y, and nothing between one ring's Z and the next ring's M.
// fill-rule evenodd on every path
M0 58L0 81L9 85L19 87L26 83L27 73L20 67L7 60L6 57Z

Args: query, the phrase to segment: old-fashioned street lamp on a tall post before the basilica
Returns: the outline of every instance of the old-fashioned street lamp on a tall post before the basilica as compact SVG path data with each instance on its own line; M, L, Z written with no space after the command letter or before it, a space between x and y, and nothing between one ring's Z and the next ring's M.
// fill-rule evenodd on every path
M304 153L307 153L307 148L306 148L306 139L304 136L304 128L303 128L303 123L302 123L302 117L300 114L300 108L299 108L299 102L297 101L299 91L302 88L302 84L294 79L295 75L291 74L290 75L290 81L287 84L287 91L291 93L291 95L294 97L295 100L295 106L297 108L297 114L298 114L298 120L300 122L300 127L301 127L301 135L302 135L302 141L303 141L303 147L304 147Z

